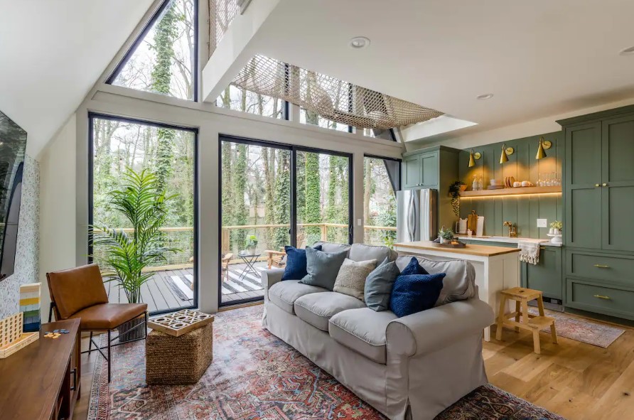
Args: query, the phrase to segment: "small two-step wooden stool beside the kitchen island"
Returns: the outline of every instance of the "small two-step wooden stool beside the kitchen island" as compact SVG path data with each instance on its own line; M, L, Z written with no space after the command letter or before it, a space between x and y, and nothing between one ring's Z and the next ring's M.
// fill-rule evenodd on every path
M542 299L541 291L525 289L523 287L514 287L512 289L503 290L500 294L498 329L495 332L495 338L497 340L502 340L502 328L504 325L507 327L515 327L515 331L519 331L520 328L532 330L534 351L539 355L541 354L541 350L539 348L539 330L550 326L552 342L557 344L557 330L555 330L554 318L544 315L544 300ZM515 312L505 314L506 301L509 299L515 301ZM528 312L528 302L533 299L537 299L539 316L534 316L532 313ZM520 322L520 315L522 316L522 322ZM515 319L513 320L512 318Z

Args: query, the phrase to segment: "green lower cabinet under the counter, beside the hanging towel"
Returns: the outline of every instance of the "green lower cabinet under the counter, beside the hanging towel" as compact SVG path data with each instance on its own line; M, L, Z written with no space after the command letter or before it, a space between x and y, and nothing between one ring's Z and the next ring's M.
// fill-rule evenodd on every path
M522 287L542 291L546 298L563 299L562 248L539 247L539 262L522 262Z

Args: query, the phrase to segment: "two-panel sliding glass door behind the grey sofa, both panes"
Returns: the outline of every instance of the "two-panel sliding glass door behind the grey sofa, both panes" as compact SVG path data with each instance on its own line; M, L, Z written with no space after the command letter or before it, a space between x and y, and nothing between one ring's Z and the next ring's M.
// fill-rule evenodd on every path
M220 139L220 305L261 299L261 272L284 246L351 242L352 158L263 141Z

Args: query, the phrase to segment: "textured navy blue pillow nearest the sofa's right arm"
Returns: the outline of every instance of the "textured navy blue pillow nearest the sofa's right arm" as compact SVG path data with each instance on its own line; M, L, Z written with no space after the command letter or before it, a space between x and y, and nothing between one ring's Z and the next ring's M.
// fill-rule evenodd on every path
M399 275L394 281L389 308L399 318L434 308L445 276L444 273Z

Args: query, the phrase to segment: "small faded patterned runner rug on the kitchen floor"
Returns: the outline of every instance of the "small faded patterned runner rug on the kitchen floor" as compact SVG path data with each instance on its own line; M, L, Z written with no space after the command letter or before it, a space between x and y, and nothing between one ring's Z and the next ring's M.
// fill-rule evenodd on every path
M533 315L538 314L536 308L530 308L528 311ZM555 328L559 337L570 338L571 340L581 341L581 343L608 348L621 334L625 333L625 330L621 328L584 321L566 313L549 310L544 312L547 316L555 319ZM544 328L542 331L550 333L550 327Z

